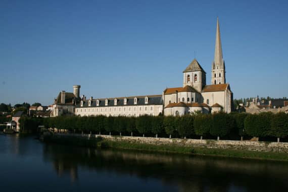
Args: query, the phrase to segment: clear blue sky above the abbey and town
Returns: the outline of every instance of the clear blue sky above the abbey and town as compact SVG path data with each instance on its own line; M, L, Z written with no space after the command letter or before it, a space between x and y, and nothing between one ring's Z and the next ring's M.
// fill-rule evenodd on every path
M162 94L196 57L211 84L219 17L234 98L288 97L288 1L0 2L0 103Z

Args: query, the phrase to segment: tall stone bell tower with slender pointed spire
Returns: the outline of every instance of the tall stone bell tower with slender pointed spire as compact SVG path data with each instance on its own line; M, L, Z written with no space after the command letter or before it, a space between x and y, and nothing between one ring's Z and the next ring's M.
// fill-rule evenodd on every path
M214 84L223 84L223 83L226 83L225 62L222 56L220 27L219 27L219 20L217 17L215 55L214 55L214 61L212 63L211 84L214 85Z

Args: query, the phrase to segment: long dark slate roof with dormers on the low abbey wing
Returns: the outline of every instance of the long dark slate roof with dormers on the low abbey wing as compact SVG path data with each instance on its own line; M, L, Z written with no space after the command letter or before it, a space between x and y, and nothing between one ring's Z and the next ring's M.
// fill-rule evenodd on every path
M136 96L136 97L127 97L127 104L124 105L125 97L121 98L108 98L108 105L105 105L106 99L93 99L91 106L89 106L89 100L83 101L82 107L113 107L113 106L138 106L138 105L163 105L162 95L147 95L148 104L145 104L146 96ZM137 98L137 104L134 104L134 98ZM117 105L114 105L114 99L117 99ZM97 100L99 100L99 106L97 106ZM81 107L81 106L77 106Z

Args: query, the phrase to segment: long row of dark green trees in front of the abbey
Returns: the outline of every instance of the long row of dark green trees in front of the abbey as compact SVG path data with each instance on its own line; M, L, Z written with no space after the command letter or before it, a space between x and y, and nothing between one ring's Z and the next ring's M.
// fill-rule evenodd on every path
M285 113L215 113L172 116L105 117L60 116L52 118L21 118L20 127L66 129L75 133L209 138L239 140L245 137L276 140L288 136L288 114Z

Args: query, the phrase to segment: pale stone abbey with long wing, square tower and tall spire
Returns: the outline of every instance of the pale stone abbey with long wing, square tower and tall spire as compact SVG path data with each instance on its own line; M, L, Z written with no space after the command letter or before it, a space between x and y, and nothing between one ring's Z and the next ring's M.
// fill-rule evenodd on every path
M206 72L194 59L183 71L182 86L166 88L159 95L86 99L84 95L80 98L80 85L74 85L73 92L61 91L58 94L53 104L52 116L75 114L137 117L159 114L177 116L195 112L230 113L233 93L225 78L218 18L211 73L211 85L207 85Z

